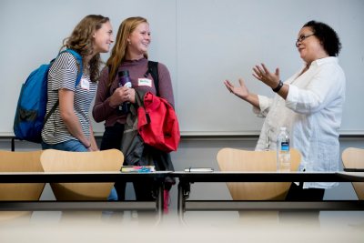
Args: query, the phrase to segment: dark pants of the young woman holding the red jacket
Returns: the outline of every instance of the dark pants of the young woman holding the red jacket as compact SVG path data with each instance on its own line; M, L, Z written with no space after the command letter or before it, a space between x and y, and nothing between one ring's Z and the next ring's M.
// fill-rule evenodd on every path
M116 148L121 150L121 139L124 133L124 125L116 123L114 127L106 127L101 141L101 150ZM152 201L153 197L153 181L143 180L133 182L134 190L136 192L136 200L139 201ZM116 193L119 201L125 200L126 182L116 181Z

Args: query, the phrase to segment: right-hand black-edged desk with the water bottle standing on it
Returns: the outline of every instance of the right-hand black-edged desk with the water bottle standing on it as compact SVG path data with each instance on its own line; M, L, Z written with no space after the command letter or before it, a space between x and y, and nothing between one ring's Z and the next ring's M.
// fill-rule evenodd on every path
M203 210L363 210L364 201L325 200L307 201L234 201L187 200L190 184L195 182L353 182L364 181L364 172L308 173L308 172L174 172L178 177L177 214Z

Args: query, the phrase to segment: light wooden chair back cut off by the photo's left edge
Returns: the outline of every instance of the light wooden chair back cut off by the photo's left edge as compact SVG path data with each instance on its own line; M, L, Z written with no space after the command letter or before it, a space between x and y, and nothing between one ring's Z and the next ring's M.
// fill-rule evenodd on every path
M11 152L0 150L0 172L43 172L40 164L42 150ZM45 183L0 183L0 201L37 201ZM0 221L30 217L31 212L0 212Z

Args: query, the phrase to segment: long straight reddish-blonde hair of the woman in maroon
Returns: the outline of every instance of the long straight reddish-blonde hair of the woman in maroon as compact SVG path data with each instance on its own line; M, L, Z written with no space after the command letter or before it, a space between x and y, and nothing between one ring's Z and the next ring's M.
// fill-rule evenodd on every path
M127 38L136 29L136 26L141 23L147 23L147 19L136 16L126 18L119 26L115 46L111 50L111 55L106 62L106 66L109 68L109 76L107 79L108 86L111 86L116 77L118 67L125 61L126 48L128 45ZM144 56L147 58L147 53L145 53Z

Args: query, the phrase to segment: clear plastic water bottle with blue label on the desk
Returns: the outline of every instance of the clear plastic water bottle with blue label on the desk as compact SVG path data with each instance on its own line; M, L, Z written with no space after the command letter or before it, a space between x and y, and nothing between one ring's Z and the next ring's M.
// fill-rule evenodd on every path
M289 135L286 127L279 128L277 137L277 170L290 171Z

